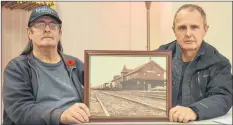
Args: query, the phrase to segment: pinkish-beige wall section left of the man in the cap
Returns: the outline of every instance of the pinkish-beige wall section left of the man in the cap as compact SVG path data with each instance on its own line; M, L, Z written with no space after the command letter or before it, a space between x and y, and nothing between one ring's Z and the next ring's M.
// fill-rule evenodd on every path
M2 8L2 68L26 46L29 14L23 10Z

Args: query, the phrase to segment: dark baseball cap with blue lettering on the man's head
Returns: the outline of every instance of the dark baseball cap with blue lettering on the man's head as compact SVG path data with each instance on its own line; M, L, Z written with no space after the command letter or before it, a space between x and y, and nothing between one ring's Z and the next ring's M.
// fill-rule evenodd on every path
M57 12L55 10L53 10L52 8L50 8L48 6L42 6L42 7L37 7L37 8L32 10L32 13L31 13L29 21L28 21L28 27L29 27L29 24L31 22L33 22L35 19L37 19L38 17L41 17L41 16L50 16L50 17L54 18L55 20L57 20L59 24L62 23L62 21L60 20Z

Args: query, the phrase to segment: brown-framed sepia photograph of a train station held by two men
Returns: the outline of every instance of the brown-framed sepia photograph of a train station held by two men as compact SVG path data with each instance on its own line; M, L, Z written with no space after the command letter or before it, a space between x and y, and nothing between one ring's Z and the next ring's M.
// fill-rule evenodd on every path
M169 120L171 52L86 50L84 58L90 122Z

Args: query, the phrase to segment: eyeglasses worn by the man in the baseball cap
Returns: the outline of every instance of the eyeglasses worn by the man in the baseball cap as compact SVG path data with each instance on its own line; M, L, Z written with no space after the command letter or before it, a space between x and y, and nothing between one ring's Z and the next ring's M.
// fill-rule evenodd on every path
M54 23L54 22L50 22L50 23L34 22L34 23L32 23L31 26L34 26L37 29L44 30L46 25L48 25L51 30L56 30L56 29L60 28L60 24Z

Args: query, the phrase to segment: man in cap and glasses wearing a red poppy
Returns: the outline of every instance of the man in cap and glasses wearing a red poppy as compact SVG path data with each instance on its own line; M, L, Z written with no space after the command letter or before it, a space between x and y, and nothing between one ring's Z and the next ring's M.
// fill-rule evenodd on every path
M49 7L29 18L28 45L4 70L3 124L78 124L89 122L83 104L84 64L63 54L62 21Z

